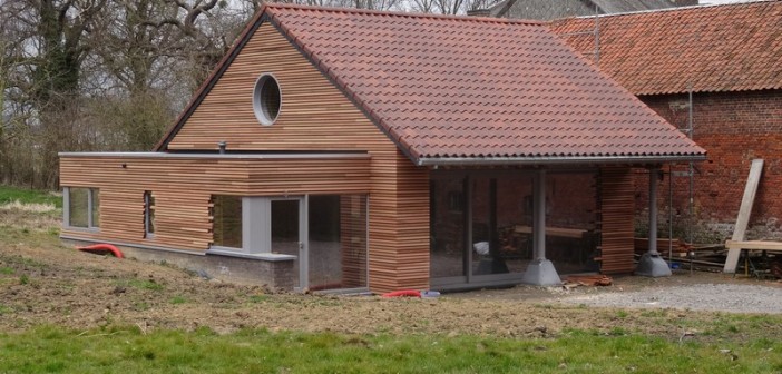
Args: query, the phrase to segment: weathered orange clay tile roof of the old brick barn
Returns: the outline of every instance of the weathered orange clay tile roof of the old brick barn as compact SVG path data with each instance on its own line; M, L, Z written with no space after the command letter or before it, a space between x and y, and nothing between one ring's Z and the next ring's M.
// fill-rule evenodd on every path
M599 18L599 66L635 95L782 88L782 1L678 8ZM553 21L593 52L594 18ZM592 57L592 55L589 55Z

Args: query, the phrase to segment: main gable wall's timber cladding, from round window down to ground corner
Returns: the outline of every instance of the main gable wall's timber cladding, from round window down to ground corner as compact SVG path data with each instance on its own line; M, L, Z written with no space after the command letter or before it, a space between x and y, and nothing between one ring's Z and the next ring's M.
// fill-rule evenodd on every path
M271 72L282 91L272 126L261 126L252 92ZM255 31L168 149L362 150L371 156L370 288L429 285L429 177L270 23Z

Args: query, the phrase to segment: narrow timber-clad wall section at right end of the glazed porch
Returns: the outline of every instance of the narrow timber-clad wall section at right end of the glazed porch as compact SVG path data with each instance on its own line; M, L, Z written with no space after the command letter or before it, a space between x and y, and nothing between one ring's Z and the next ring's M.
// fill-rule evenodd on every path
M634 185L629 168L603 168L600 186L600 273L633 273Z

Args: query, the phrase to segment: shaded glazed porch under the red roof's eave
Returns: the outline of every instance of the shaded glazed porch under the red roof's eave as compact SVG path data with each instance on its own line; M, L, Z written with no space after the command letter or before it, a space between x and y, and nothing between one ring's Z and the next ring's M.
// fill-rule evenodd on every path
M431 286L548 286L560 275L633 273L629 170L432 170Z

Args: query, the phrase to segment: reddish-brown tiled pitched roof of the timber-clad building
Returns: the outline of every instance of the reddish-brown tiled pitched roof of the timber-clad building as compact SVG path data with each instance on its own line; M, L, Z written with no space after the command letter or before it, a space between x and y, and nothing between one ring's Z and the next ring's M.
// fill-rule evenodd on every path
M418 165L705 156L540 22L290 4L267 4L253 24L261 22L274 24Z

